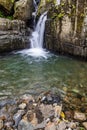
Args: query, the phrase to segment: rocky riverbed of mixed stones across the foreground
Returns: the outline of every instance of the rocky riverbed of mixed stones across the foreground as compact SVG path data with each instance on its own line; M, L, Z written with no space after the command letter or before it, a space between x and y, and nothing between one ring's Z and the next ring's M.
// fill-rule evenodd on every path
M86 129L87 98L80 94L48 91L0 100L0 130Z

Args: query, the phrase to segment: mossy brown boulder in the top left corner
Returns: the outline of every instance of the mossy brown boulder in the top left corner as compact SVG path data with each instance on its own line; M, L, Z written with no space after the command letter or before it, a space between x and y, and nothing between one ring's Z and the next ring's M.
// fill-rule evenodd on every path
M0 0L0 8L3 8L7 13L11 12L15 0Z

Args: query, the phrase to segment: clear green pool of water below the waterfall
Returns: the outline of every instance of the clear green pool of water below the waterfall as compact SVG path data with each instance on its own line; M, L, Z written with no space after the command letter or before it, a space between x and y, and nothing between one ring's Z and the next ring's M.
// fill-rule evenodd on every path
M19 54L0 57L0 97L40 93L53 87L87 95L87 63L52 55L34 59Z

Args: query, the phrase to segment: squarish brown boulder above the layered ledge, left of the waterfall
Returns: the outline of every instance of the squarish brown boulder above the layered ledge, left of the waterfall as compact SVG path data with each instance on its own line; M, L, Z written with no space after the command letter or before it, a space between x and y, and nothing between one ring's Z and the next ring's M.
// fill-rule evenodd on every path
M29 20L33 11L33 0L19 0L15 2L14 18L20 20Z

